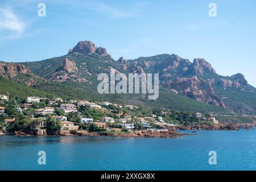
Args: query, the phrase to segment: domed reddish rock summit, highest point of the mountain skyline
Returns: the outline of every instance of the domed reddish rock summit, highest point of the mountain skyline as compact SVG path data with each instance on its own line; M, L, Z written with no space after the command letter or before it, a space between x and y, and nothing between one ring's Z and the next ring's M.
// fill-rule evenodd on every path
M80 41L73 49L69 49L68 53L78 52L86 55L96 54L99 56L110 56L107 50L103 47L96 47L90 41Z

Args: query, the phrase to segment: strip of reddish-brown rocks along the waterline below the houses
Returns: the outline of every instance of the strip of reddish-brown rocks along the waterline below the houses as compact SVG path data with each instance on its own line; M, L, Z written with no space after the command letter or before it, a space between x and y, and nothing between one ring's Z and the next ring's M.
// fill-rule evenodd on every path
M220 123L216 124L192 124L189 126L166 126L168 131L131 131L129 133L112 133L112 132L89 132L89 131L59 131L55 133L38 132L23 132L15 131L14 133L2 133L1 135L16 135L16 136L81 136L81 137L126 137L126 138L178 138L184 135L178 131L184 130L225 130L225 131L238 131L254 130L256 122L253 123ZM195 132L192 132L195 133ZM1 136L0 135L0 136Z

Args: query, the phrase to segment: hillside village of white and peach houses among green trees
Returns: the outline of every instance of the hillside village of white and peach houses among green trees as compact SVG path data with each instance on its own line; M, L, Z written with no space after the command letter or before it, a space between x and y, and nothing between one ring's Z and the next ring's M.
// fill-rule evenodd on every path
M62 133L83 130L113 133L135 130L168 131L167 126L180 125L168 118L172 114L171 110L152 111L145 116L138 112L141 108L135 105L51 99L31 96L22 101L9 100L8 96L0 94L0 129L6 132L15 122L20 122L11 117L17 114L26 115L26 119L34 121L39 133L46 132L49 118L61 126L59 130ZM195 121L207 121L218 125L214 113L191 113L189 117Z

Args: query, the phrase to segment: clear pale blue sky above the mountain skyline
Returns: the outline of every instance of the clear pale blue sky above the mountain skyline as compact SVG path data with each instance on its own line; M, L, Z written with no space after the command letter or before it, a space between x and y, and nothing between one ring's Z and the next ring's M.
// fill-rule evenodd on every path
M46 17L38 3L46 3ZM216 3L217 17L208 15ZM80 40L114 59L175 53L205 58L217 73L241 72L256 86L256 0L85 0L0 2L0 60L65 55Z

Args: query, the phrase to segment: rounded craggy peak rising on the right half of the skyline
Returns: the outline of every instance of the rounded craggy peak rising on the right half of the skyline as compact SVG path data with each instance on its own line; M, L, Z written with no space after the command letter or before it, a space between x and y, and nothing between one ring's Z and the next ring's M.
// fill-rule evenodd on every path
M203 76L204 73L216 73L212 65L205 61L205 59L194 59L191 65L191 73L196 76Z

